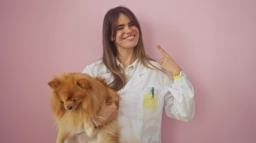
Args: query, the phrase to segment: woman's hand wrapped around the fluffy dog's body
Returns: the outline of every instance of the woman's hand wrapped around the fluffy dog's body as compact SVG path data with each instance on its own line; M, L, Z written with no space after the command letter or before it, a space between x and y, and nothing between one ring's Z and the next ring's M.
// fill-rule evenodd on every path
M112 102L110 105L106 105L106 102L101 106L101 110L99 113L99 118L96 121L96 126L103 126L106 123L111 122L112 120L116 119L118 115L118 107L116 106L115 102Z

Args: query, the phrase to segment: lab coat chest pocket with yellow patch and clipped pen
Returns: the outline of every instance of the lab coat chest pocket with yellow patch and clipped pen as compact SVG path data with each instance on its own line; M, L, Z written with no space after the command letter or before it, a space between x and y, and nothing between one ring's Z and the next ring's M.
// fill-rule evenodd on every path
M158 115L158 94L155 88L146 88L141 101L141 117L143 120L154 120Z

